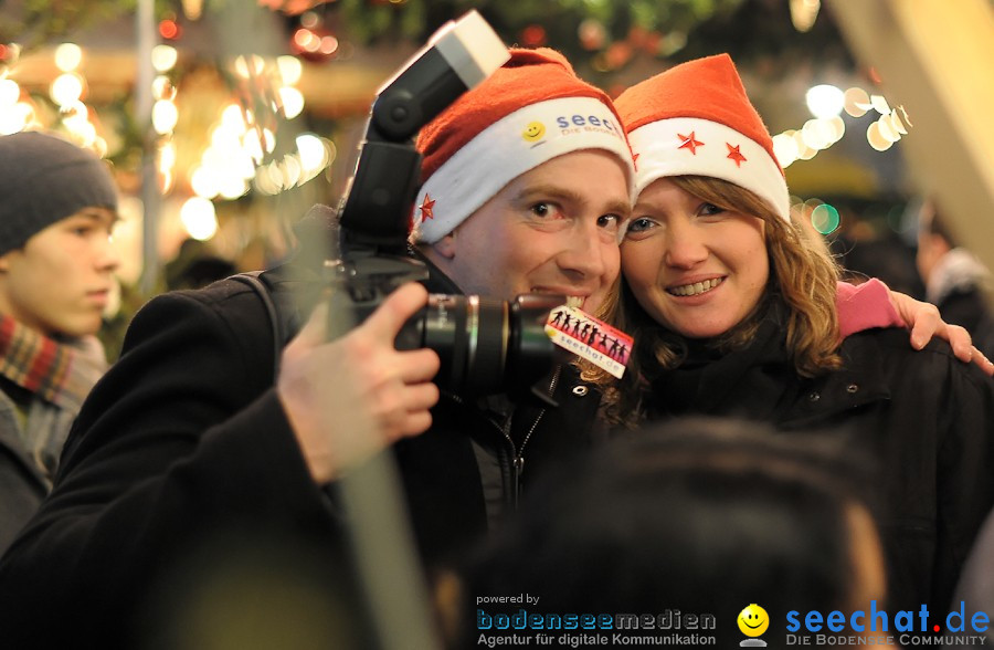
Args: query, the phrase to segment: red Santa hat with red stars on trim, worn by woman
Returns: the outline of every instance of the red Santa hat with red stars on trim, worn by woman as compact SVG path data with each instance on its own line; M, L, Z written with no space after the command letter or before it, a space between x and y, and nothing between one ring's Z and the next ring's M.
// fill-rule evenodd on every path
M635 196L667 176L709 176L753 191L790 219L773 139L728 54L676 65L614 103L635 155Z

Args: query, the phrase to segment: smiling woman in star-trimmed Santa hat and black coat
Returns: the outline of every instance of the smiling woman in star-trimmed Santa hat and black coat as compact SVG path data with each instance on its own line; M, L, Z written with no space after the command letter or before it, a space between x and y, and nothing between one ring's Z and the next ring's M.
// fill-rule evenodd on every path
M623 281L607 306L635 337L614 423L679 415L836 438L877 465L891 608L947 611L994 504L994 382L944 342L842 340L838 269L790 207L783 170L728 55L677 65L615 102L636 157Z

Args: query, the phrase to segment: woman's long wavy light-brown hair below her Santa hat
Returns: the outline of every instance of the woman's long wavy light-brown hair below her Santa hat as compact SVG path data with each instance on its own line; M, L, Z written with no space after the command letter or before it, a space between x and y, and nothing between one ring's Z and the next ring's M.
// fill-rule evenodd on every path
M721 179L675 176L668 180L702 201L765 222L770 280L763 298L712 345L721 350L744 347L755 336L766 308L771 303L780 303L786 315L787 354L797 374L813 377L839 367L835 307L839 269L822 235L804 221L804 216L792 211L787 222L753 192ZM633 217L637 219L637 212ZM609 422L633 426L642 415L646 380L679 366L685 346L679 335L656 323L642 308L623 277L599 315L634 336L635 348L621 380L586 361L580 363L582 377L604 390L603 411Z

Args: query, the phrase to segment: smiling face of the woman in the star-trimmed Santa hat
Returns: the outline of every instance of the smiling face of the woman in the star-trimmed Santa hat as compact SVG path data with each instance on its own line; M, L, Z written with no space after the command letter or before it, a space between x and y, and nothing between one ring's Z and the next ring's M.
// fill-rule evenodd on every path
M622 273L638 304L688 338L741 322L770 276L763 221L718 208L667 178L638 197L622 243Z

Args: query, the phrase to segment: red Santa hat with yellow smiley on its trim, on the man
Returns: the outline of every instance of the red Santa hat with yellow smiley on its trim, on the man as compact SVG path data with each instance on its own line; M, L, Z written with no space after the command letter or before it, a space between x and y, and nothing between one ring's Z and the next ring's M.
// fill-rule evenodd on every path
M554 50L510 53L503 67L421 129L416 241L438 241L508 182L571 151L611 151L634 179L632 153L607 95L580 80Z

